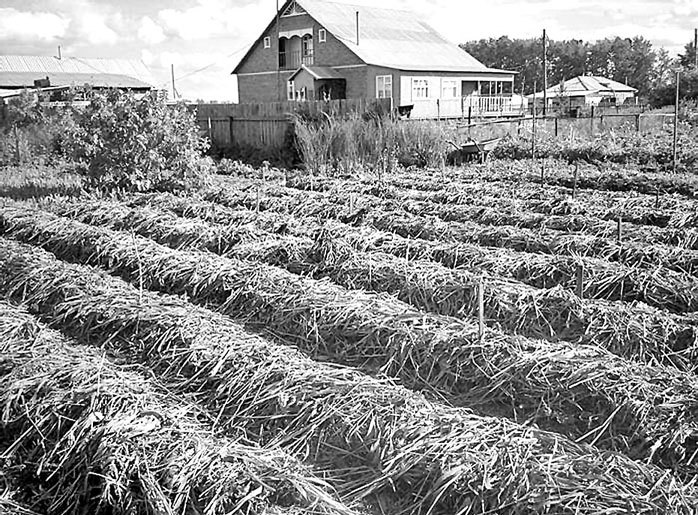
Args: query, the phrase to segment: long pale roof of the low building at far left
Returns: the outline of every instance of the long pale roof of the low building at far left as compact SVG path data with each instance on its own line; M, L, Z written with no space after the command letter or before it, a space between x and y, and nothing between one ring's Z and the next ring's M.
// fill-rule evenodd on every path
M155 83L141 61L77 57L0 56L0 88L33 87L48 77L52 86L90 84L94 87L144 89Z

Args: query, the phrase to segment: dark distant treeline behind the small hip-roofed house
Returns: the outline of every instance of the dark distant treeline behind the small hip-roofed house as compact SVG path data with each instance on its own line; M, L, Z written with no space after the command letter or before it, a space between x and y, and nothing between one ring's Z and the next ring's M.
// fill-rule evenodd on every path
M519 72L515 91L533 93L543 85L542 38L469 41L461 48L487 66ZM653 104L672 103L675 71L686 72L682 89L686 98L698 97L698 72L694 69L693 42L673 58L664 48L654 48L642 36L607 38L595 42L578 39L548 40L548 87L577 75L601 75L639 90L640 97ZM685 82L685 87L683 82ZM668 99L667 99L668 94ZM669 100L668 102L666 102Z

